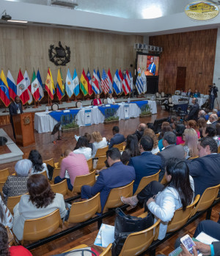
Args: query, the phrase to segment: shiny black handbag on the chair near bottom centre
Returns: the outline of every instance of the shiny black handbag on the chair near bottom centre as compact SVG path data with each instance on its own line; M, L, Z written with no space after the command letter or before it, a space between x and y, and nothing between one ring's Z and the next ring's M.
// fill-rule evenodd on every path
M153 214L148 213L145 218L126 215L120 208L116 209L114 222L114 243L111 248L111 255L120 255L125 240L131 233L146 230L153 225Z

